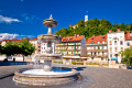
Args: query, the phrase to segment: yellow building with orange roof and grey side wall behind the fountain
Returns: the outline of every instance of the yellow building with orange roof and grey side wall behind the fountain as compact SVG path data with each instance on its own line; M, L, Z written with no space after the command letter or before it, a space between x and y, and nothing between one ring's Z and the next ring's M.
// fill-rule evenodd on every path
M87 56L85 36L75 34L75 36L63 37L62 43L55 45L55 54L62 54L66 59L84 61L82 57Z

